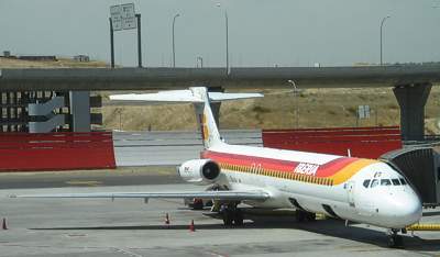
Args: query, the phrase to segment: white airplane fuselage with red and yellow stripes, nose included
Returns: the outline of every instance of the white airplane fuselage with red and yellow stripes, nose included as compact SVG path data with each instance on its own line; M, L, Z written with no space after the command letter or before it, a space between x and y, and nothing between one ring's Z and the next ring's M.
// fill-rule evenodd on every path
M421 203L388 164L362 158L221 144L201 154L221 167L230 190L264 189L257 208L299 209L381 227L403 228L421 217Z

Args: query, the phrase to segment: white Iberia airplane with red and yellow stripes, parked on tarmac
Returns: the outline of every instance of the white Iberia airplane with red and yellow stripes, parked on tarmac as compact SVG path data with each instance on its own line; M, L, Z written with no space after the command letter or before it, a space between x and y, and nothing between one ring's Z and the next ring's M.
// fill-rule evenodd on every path
M421 203L404 176L387 163L345 156L229 145L220 137L210 102L262 97L258 93L208 92L206 88L146 94L111 96L111 100L194 103L205 150L178 167L187 182L211 185L199 192L111 192L19 195L28 198L183 198L215 200L226 225L242 225L238 204L295 209L298 221L316 213L387 228L389 246L421 217ZM217 206L219 206L217 204ZM215 209L212 209L215 210Z

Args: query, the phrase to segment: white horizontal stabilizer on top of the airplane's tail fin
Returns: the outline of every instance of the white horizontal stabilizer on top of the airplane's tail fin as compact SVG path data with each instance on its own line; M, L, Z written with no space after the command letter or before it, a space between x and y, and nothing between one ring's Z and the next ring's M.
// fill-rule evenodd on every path
M201 103L204 99L197 93L197 88L189 88L189 90L170 90L160 91L156 93L129 93L129 94L113 94L110 100L114 101L142 101L150 103ZM223 92L208 92L210 102L262 98L262 93L223 93Z

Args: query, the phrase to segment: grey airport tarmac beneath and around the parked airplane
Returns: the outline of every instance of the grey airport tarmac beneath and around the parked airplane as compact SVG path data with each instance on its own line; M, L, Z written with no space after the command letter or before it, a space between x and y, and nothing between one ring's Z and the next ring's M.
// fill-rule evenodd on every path
M28 181L11 188L0 182L0 219L8 226L0 230L0 256L440 256L440 232L408 232L405 248L391 249L384 228L346 227L343 221L331 219L297 223L292 216L251 215L242 227L224 227L222 221L204 215L207 210L193 211L183 200L151 199L145 204L143 199L9 198L205 189L176 183L177 175L170 169L124 170L119 179L106 180L111 172L119 171L0 175L0 181ZM133 185L135 178L139 182ZM68 183L73 179L77 182ZM87 182L92 180L100 182ZM189 231L191 220L195 232ZM426 210L421 222L440 223L439 209Z

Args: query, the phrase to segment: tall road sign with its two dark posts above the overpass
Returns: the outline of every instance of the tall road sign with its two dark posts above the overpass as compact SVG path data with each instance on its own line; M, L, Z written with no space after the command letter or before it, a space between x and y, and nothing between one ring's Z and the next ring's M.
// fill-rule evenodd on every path
M138 67L142 68L141 14L135 14L134 3L110 7L111 67L114 68L113 32L138 27Z

